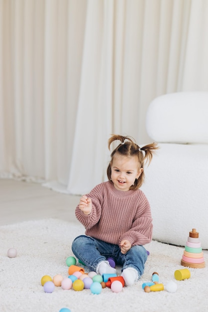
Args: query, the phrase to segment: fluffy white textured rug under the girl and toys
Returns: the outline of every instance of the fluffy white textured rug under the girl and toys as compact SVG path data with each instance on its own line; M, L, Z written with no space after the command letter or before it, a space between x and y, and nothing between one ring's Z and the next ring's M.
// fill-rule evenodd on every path
M208 268L189 268L191 278L176 281L174 272L184 268L180 265L183 248L157 241L146 245L150 255L142 278L134 286L124 287L120 293L106 288L101 294L93 295L90 290L63 290L61 287L56 287L51 294L45 293L40 283L43 275L68 277L66 258L73 256L71 243L80 234L84 234L81 225L58 219L1 226L0 311L59 312L64 307L71 312L208 310ZM7 250L11 247L17 250L15 258L7 257ZM205 261L208 264L207 253ZM120 268L117 269L120 273ZM155 271L165 290L145 293L142 284L150 282ZM175 293L166 290L169 281L176 282L178 289Z

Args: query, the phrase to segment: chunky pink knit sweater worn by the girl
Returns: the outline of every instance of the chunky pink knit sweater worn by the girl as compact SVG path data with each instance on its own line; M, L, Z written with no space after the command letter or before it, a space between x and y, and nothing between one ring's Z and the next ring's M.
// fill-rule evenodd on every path
M75 210L86 235L116 245L123 239L132 246L151 241L150 205L140 189L119 191L107 181L95 186L86 196L92 200L91 213L85 215L79 206Z

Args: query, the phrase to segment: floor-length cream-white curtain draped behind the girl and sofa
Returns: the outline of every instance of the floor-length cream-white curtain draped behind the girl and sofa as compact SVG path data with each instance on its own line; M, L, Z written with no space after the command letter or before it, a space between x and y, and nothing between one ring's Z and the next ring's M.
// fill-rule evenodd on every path
M82 194L111 134L161 94L208 91L207 0L0 0L0 176Z

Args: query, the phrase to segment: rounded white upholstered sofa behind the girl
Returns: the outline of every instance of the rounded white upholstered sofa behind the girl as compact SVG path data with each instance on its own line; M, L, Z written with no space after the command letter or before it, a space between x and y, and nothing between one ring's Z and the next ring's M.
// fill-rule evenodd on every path
M147 132L159 144L141 189L153 215L153 239L185 246L196 228L208 249L208 92L156 98Z

